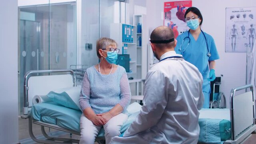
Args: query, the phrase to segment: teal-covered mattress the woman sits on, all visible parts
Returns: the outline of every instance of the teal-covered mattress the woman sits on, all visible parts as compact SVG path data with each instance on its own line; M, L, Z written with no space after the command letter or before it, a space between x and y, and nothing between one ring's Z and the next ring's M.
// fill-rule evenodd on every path
M123 133L135 120L141 106L133 103L128 106L128 120L121 128ZM34 120L55 124L62 128L80 132L80 110L66 108L55 102L34 104L30 115ZM229 109L202 109L199 116L200 136L198 142L220 142L230 138ZM98 136L104 136L104 129Z

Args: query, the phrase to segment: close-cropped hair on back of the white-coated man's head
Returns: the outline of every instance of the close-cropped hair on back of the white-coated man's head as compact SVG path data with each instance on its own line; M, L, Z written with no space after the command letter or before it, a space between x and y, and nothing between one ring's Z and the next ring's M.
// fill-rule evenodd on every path
M174 38L174 33L171 28L167 26L158 26L155 28L152 33L150 34L150 39L151 40L170 40ZM164 43L164 44L155 44L153 43L157 48L174 48L175 43L169 42L169 43Z

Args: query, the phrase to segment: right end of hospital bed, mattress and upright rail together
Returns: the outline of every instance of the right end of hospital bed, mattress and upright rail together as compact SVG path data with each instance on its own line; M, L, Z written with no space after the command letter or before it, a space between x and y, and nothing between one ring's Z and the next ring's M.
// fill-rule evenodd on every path
M246 89L250 90L243 92ZM254 111L253 86L233 88L230 92L230 109L200 110L198 142L220 143L216 138L217 133L214 132L218 129L218 135L224 144L242 144L256 130Z

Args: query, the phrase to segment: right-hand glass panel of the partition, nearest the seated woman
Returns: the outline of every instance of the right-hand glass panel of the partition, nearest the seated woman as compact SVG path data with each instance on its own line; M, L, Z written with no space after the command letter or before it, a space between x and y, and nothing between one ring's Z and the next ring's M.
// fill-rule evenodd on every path
M53 2L56 0L53 0ZM50 70L76 65L76 2L52 4L50 0Z

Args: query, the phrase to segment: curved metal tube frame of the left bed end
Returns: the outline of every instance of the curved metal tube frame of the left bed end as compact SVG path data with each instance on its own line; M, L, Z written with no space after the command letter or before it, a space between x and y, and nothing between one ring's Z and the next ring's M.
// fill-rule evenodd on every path
M57 73L57 72L68 72L72 75L73 78L73 86L76 86L76 76L73 70L30 70L28 71L24 76L24 105L23 105L23 115L21 115L21 118L29 118L28 116L28 79L32 76L32 74L42 74L42 73Z

